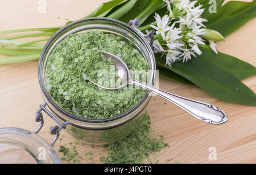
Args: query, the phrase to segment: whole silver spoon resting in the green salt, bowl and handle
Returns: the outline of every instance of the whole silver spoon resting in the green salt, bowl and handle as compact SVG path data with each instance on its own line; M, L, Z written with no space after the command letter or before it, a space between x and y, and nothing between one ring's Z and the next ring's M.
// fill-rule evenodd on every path
M104 89L120 89L124 86L127 86L127 84L134 84L136 86L145 88L148 91L154 92L168 101L171 101L172 103L184 109L185 111L192 114L193 116L200 119L201 121L212 123L212 124L221 124L228 121L228 117L226 116L226 114L221 109L217 108L214 105L210 105L200 101L177 96L172 93L163 91L161 89L157 89L155 87L149 86L137 80L131 79L129 69L126 63L122 61L122 59L104 50L98 50L98 51L102 52L102 54L104 54L106 59L111 59L115 63L115 66L117 67L117 70L118 70L118 77L122 80L122 82L126 82L126 83L123 83L122 86L109 88L109 87L100 86L90 81L93 84L96 84L98 87L101 87Z

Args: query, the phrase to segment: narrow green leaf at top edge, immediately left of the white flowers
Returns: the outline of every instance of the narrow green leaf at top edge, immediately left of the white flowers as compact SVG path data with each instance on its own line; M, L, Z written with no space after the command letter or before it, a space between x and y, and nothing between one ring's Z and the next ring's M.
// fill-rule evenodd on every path
M158 8L164 5L163 0L151 0L151 2L147 5L147 7L138 15L139 25L141 25L152 13L154 13Z

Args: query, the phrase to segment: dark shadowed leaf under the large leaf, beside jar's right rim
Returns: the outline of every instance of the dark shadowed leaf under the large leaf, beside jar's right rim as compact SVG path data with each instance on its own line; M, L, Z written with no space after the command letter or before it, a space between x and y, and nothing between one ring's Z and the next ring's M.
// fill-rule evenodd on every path
M180 82L180 83L194 84L191 81L185 79L183 76L180 76L179 74L176 74L175 72L171 71L170 69L165 69L163 67L162 67L162 65L156 66L156 69L159 70L160 76L163 76L164 78L176 80L177 82Z

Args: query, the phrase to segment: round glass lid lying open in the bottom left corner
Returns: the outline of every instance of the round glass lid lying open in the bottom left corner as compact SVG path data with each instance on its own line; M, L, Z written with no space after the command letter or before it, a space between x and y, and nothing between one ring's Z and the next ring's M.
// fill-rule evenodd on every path
M0 128L0 164L54 164L59 156L46 140L31 131Z

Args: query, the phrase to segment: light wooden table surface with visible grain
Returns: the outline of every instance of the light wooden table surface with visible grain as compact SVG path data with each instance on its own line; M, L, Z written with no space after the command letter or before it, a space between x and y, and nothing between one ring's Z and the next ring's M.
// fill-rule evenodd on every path
M46 13L39 13L39 1L0 0L0 31L6 29L57 27L69 20L83 18L108 0L46 0ZM256 19L243 25L238 31L218 42L219 52L230 54L256 66ZM1 35L10 36L9 35ZM23 39L26 41L28 39ZM0 65L0 127L22 127L34 131L35 112L43 103L37 74L38 61ZM256 77L243 80L256 92ZM256 108L227 103L216 99L199 87L181 84L174 80L160 78L159 87L191 99L204 101L223 109L228 114L228 122L222 125L209 125L192 117L174 104L155 96L148 104L152 127L157 135L162 134L170 145L154 157L159 163L256 163ZM164 105L166 103L166 105ZM39 135L51 142L53 135L49 127L56 125L44 114L45 123ZM75 142L71 136L61 131L63 139L54 146ZM209 160L210 147L216 148L217 160ZM93 162L100 163L100 147L89 145L77 147L81 151L93 151ZM87 158L81 161L86 163Z

